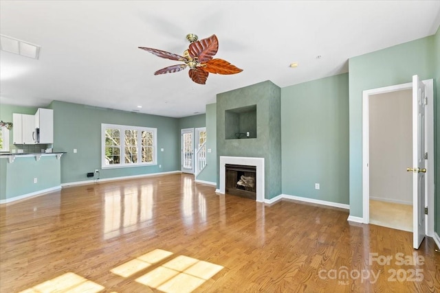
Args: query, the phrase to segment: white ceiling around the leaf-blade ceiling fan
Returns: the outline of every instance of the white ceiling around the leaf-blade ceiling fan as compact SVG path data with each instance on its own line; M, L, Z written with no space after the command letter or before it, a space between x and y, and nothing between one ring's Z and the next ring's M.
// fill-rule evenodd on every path
M0 1L0 33L41 46L39 60L1 51L0 102L52 100L185 117L217 93L265 80L284 87L348 71L348 59L435 34L440 1ZM153 75L179 62L186 34L216 34L222 58L243 69ZM320 55L322 58L317 58ZM298 62L296 69L289 64ZM142 106L138 109L137 106Z

